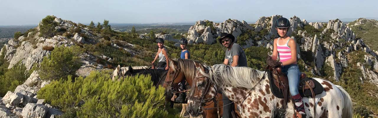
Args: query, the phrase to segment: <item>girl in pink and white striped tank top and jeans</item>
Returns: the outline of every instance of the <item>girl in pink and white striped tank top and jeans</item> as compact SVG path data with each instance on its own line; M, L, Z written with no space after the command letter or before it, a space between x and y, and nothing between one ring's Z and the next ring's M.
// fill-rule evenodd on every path
M288 77L290 94L294 100L297 113L300 113L302 118L306 118L302 96L298 91L301 73L297 65L297 45L295 40L287 35L290 21L282 17L276 20L275 26L280 37L274 39L272 59L277 60L277 54L279 54L282 72Z

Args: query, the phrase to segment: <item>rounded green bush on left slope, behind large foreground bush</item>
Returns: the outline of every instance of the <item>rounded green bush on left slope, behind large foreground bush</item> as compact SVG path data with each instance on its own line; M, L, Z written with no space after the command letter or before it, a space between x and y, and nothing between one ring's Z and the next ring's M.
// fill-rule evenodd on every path
M57 47L49 56L43 58L38 69L41 79L58 80L74 75L81 67L80 47Z

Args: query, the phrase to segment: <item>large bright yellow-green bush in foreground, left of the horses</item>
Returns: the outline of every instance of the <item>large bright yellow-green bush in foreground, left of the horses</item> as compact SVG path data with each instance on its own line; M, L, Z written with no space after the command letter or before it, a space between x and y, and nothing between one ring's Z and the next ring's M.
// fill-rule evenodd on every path
M164 88L150 76L125 77L113 82L107 71L92 71L86 78L53 81L38 92L39 99L64 109L78 107L82 118L166 118ZM79 105L82 103L82 105Z

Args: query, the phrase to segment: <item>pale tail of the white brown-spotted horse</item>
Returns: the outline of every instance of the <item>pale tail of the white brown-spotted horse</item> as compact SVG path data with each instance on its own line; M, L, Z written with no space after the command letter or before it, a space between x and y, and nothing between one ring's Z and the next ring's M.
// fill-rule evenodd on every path
M342 109L342 118L352 118L353 116L353 104L352 104L352 98L350 98L350 95L339 85L336 85L336 87L339 88L342 96L344 97L344 108Z

